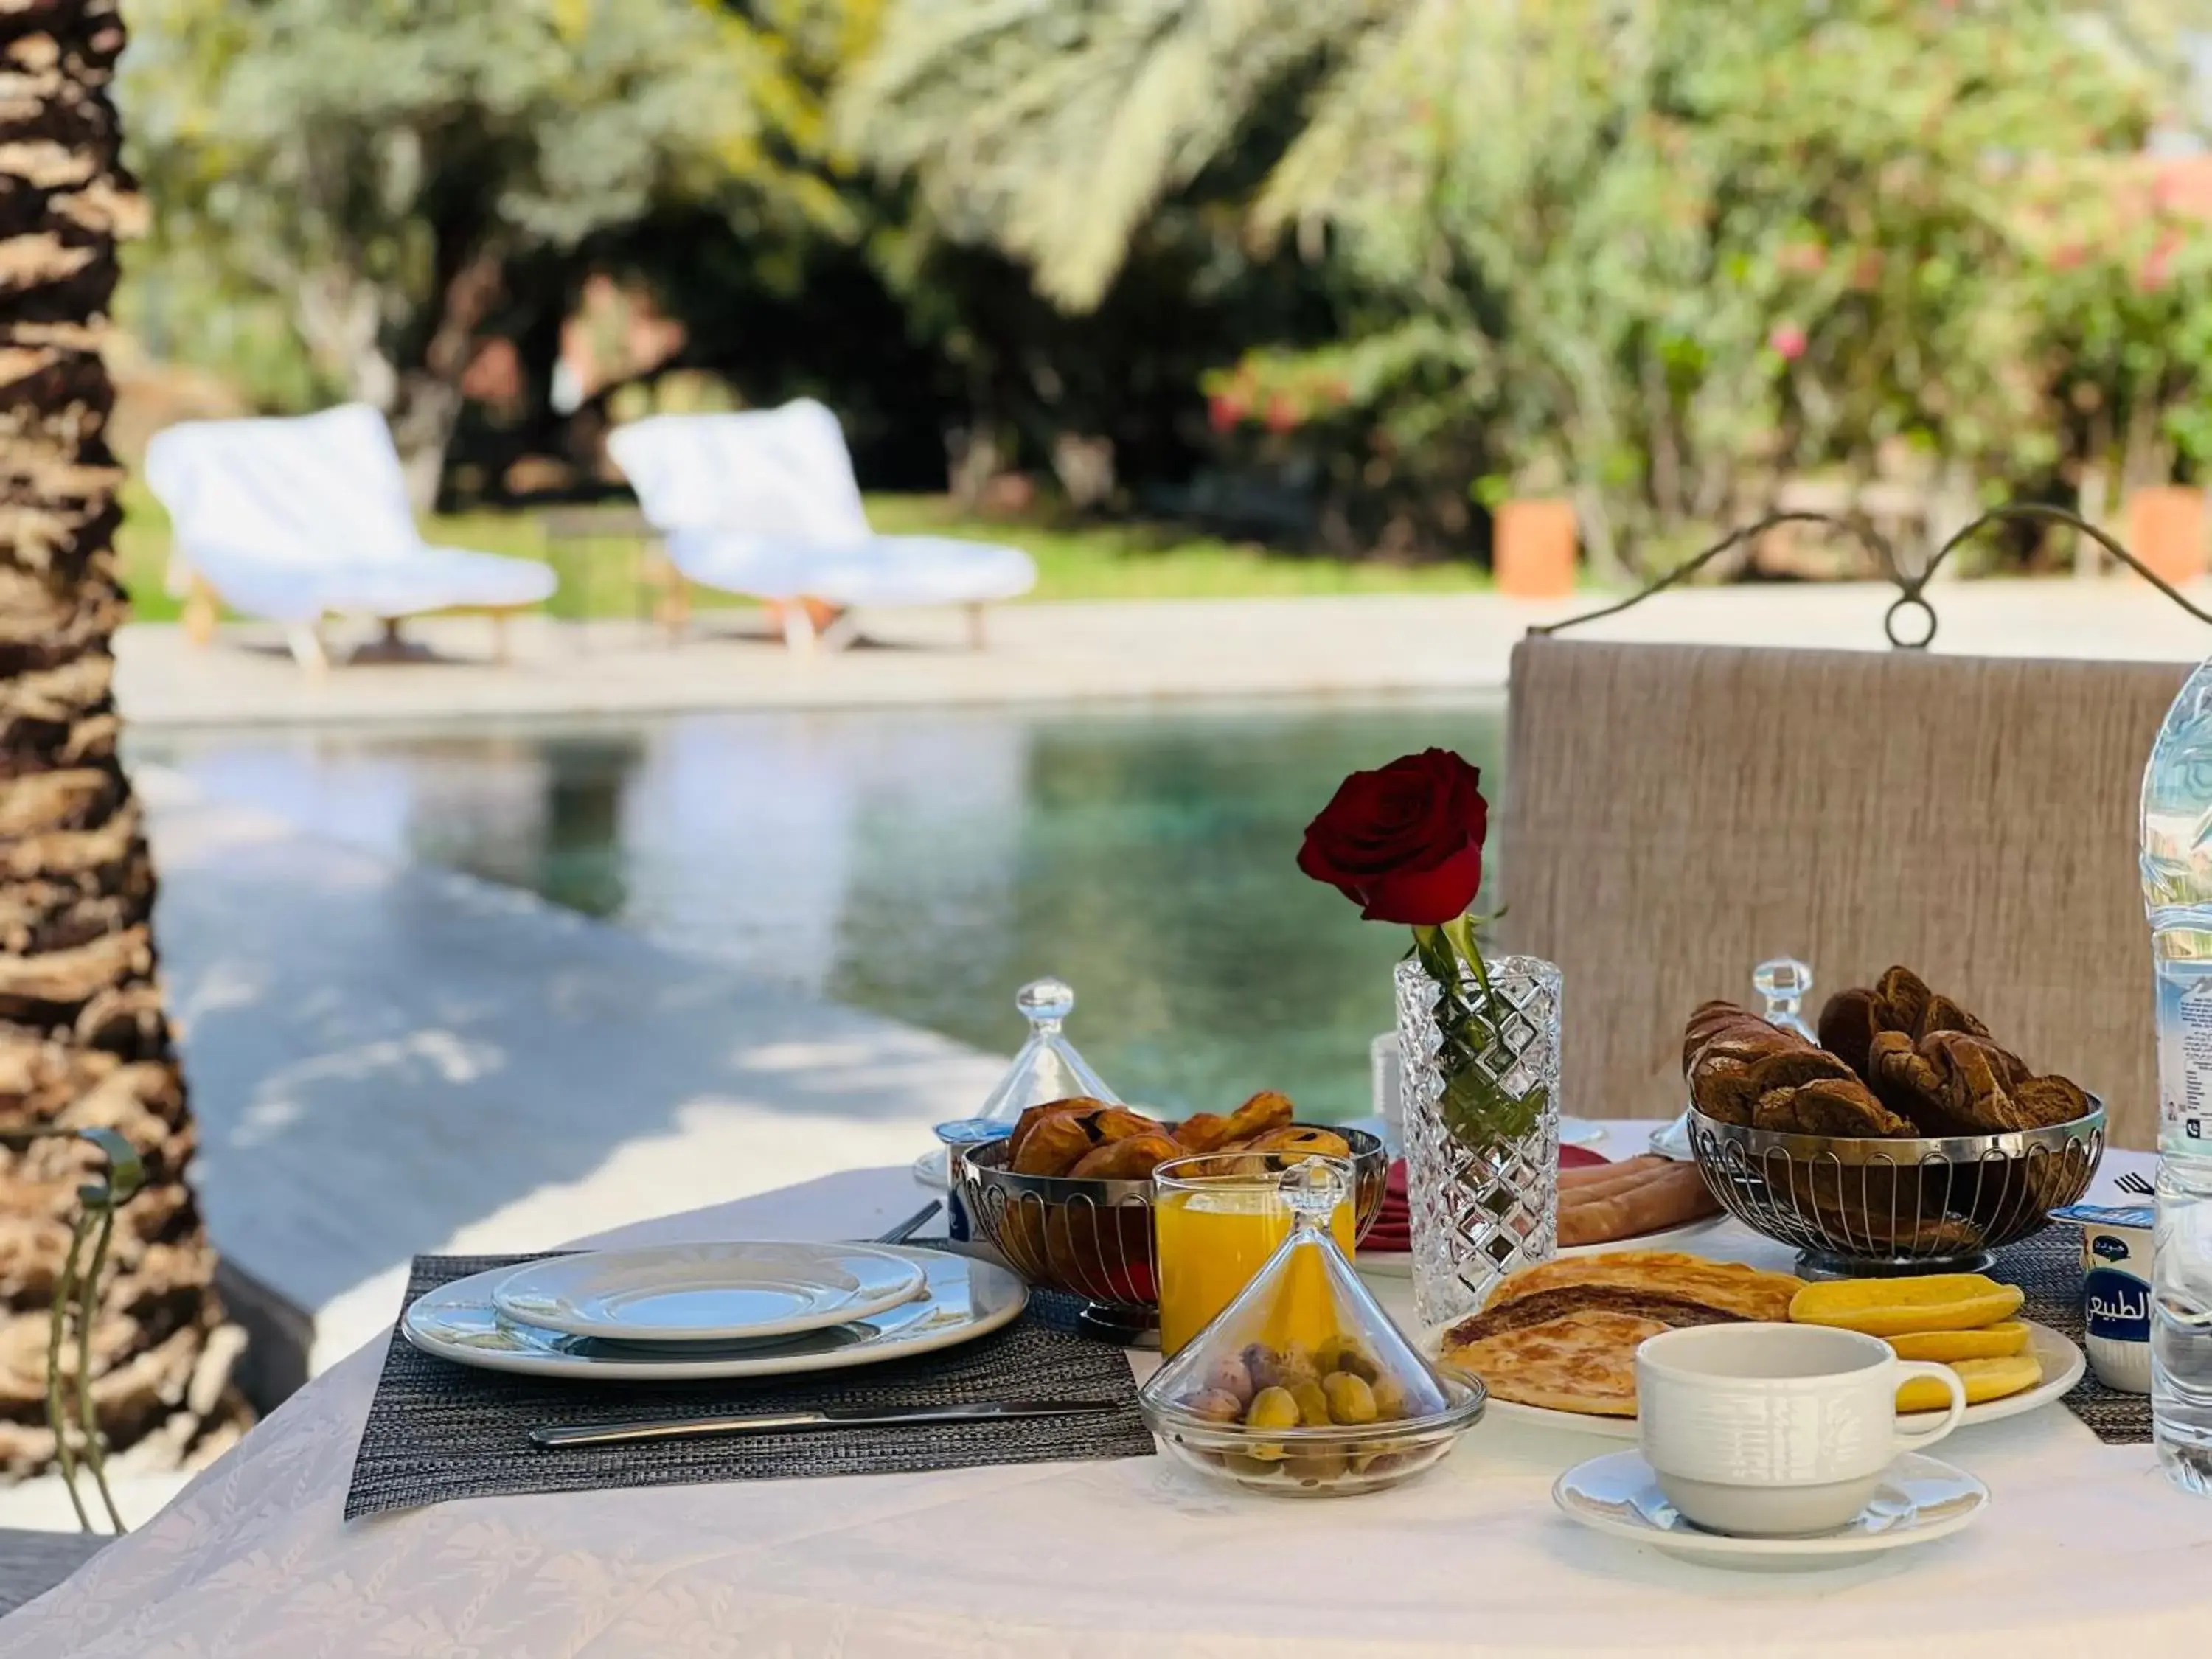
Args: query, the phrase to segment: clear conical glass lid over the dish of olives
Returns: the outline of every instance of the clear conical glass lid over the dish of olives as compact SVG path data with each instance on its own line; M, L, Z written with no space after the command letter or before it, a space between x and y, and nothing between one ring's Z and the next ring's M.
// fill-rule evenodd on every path
M1405 1338L1329 1234L1352 1190L1343 1159L1285 1170L1279 1197L1248 1183L1219 1201L1281 1201L1290 1237L1237 1298L1144 1385L1166 1413L1254 1431L1349 1429L1436 1416L1451 1405L1436 1367ZM1203 1203L1192 1194L1188 1203Z

